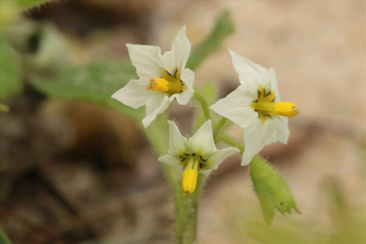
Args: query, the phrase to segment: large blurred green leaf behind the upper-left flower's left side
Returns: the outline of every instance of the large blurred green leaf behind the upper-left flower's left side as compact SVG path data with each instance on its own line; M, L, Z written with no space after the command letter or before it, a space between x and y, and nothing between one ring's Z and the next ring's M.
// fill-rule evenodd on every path
M133 109L111 98L111 95L136 78L129 61L96 60L91 64L67 67L56 77L31 78L36 89L60 100L78 100L107 106L124 115L142 119L143 108Z

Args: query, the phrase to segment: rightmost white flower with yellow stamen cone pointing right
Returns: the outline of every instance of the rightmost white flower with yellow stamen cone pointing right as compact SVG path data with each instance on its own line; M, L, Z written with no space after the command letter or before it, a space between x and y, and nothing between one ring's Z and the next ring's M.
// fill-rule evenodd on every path
M241 85L210 108L243 128L244 166L264 146L277 140L287 143L287 117L297 115L299 108L292 102L281 102L273 68L267 70L233 50L229 53Z

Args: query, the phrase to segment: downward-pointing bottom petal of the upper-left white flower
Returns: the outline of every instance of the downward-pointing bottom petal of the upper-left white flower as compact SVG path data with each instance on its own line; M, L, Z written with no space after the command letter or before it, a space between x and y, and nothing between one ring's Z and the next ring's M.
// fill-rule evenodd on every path
M156 119L156 116L163 113L168 108L170 102L164 93L156 94L146 101L146 117L142 119L142 124L147 128Z

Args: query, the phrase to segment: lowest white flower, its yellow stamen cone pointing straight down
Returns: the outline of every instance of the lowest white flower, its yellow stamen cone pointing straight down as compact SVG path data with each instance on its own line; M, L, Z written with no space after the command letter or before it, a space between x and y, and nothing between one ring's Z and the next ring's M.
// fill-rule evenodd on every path
M235 147L217 150L213 136L211 120L206 121L194 136L187 139L179 132L177 125L169 120L168 154L158 160L183 171L183 194L192 194L196 188L198 173L208 175L217 169L225 158L239 153Z

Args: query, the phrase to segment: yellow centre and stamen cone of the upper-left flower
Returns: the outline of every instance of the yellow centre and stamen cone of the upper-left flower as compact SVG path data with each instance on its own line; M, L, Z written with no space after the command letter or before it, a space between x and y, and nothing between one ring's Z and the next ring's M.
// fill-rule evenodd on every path
M175 68L173 74L167 70L161 71L160 78L150 79L150 83L146 86L146 90L156 90L173 95L176 93L182 93L185 90L184 83L180 79L180 71Z

